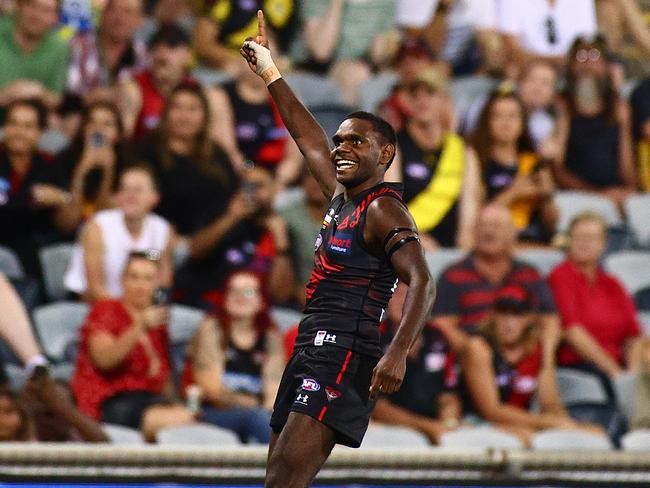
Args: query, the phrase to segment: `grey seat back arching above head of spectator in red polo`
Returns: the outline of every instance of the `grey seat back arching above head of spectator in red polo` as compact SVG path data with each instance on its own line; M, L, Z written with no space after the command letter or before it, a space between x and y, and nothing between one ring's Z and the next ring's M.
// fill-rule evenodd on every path
M577 214L585 211L592 211L600 214L608 227L622 227L623 219L616 208L608 198L602 197L596 193L582 191L557 191L554 196L555 204L560 212L558 231L566 232L571 223L571 219Z

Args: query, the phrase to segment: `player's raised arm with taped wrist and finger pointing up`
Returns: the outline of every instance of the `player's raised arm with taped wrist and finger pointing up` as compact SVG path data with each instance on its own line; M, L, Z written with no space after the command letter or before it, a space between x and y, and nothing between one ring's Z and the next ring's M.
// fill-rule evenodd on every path
M309 171L316 178L327 198L342 191L336 182L336 171L330 160L327 135L316 122L314 116L298 100L293 90L282 79L271 59L264 26L264 15L258 11L258 36L254 41L246 41L241 55L248 66L266 83L275 101L284 125L296 141L300 152L305 156Z

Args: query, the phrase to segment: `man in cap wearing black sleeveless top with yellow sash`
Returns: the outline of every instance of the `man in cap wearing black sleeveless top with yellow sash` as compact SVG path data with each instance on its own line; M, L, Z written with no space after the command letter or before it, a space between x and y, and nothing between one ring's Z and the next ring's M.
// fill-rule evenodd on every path
M481 198L476 154L450 130L446 82L422 71L409 86L412 115L397 134L398 157L387 181L404 183L404 201L425 250L472 246Z

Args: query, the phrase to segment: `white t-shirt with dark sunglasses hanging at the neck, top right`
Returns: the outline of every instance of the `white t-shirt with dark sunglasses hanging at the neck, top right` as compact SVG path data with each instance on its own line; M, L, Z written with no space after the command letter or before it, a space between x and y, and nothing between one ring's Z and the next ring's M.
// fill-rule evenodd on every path
M501 0L498 25L503 34L518 36L524 50L540 56L564 56L576 37L598 29L594 0L556 0L553 6L549 0Z

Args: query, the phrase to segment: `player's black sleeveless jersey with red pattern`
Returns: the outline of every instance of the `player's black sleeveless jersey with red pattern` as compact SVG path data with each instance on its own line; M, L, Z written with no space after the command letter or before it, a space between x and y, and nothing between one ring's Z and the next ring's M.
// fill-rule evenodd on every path
M332 345L381 356L379 323L397 275L386 256L363 239L369 205L379 197L402 202L401 185L381 183L355 198L335 197L316 238L314 269L296 349Z

